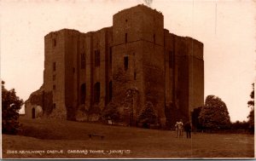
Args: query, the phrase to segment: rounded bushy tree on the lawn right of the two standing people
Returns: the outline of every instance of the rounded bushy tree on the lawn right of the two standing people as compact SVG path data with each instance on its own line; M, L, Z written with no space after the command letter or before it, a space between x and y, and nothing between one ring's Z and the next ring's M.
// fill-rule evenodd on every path
M202 107L199 120L206 129L225 129L230 126L230 115L224 101L215 95L208 95Z

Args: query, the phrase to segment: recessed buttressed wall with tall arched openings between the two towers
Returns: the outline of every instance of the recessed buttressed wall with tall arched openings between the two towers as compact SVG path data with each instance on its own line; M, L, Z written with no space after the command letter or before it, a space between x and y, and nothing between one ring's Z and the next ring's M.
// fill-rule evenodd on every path
M108 27L97 32L67 34L65 82L68 119L79 121L100 119L101 112L109 101L107 97L111 68L108 68L108 53L111 33L111 27ZM98 65L96 65L97 52ZM98 102L95 101L96 83L100 84Z

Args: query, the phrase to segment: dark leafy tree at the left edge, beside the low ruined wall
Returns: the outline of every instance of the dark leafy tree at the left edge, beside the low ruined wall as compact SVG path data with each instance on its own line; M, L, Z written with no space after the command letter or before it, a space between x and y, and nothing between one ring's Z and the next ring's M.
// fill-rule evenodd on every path
M16 134L20 124L18 122L19 110L23 101L16 96L15 89L7 90L2 81L2 132L3 134Z

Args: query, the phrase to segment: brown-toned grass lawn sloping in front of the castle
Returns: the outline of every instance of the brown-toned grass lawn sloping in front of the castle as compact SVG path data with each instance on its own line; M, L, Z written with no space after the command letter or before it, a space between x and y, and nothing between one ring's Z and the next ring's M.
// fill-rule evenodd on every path
M178 139L170 130L54 119L20 118L20 123L23 134L3 135L3 158L254 158L254 135L197 133Z

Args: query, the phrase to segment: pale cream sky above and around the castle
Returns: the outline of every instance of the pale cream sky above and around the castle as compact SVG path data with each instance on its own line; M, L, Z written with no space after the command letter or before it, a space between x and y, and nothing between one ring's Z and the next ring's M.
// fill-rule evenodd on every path
M0 1L1 78L26 101L43 84L44 36L62 28L90 32L112 26L113 14L143 0ZM255 80L256 2L153 0L164 26L204 43L205 97L217 95L231 121L247 120Z

